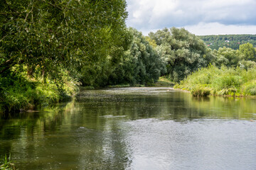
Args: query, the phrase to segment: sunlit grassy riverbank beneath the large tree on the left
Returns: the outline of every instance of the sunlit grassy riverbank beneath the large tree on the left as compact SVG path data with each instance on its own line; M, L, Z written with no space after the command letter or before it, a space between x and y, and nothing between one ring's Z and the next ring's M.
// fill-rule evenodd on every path
M0 113L33 110L36 106L69 100L78 86L73 79L61 79L29 78L26 74L0 77Z

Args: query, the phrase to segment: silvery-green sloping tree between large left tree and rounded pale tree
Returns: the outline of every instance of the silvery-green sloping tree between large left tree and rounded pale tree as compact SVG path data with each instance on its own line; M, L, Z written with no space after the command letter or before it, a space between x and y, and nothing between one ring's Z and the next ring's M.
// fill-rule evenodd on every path
M112 72L109 84L152 84L165 73L164 60L142 33L134 28L129 28L129 33L132 35L132 45Z

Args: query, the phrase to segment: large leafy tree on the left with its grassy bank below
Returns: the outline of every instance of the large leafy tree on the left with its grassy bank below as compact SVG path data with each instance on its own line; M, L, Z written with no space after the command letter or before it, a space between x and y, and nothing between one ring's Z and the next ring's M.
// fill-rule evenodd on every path
M129 45L125 1L4 0L0 11L1 111L101 84Z

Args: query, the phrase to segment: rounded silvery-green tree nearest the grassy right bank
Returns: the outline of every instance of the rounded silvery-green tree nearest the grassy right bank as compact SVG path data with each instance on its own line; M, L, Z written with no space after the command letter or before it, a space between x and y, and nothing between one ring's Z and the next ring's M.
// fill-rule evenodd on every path
M184 28L164 28L156 33L149 33L149 38L159 45L156 50L166 60L167 74L176 82L198 68L206 67L213 57L203 40Z

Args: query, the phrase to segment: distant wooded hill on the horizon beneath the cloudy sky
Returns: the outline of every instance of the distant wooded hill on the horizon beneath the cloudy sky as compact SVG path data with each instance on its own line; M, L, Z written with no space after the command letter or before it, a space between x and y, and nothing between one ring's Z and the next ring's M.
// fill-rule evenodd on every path
M219 47L230 47L238 50L239 46L250 42L256 47L256 35L198 35L208 47L218 50Z

